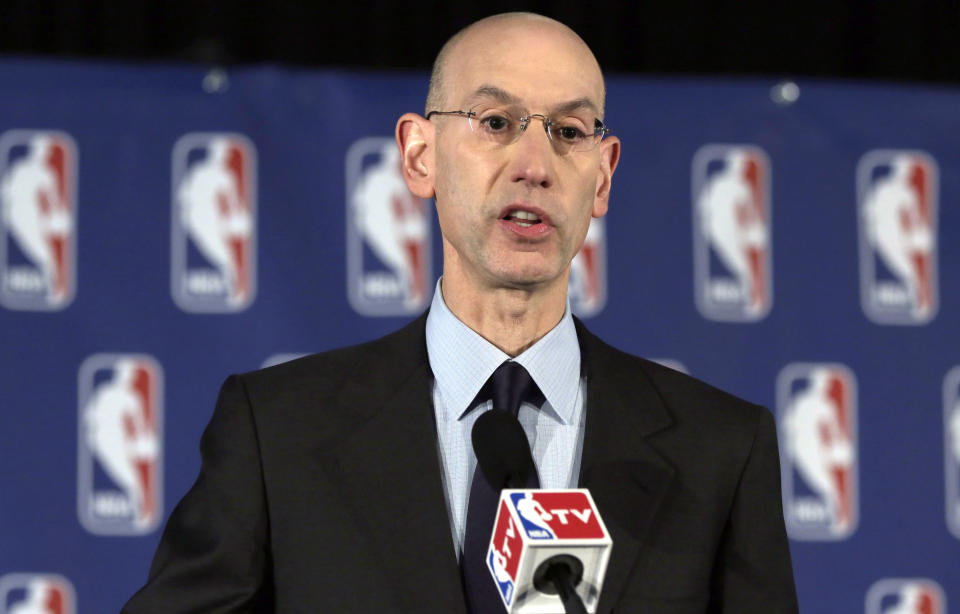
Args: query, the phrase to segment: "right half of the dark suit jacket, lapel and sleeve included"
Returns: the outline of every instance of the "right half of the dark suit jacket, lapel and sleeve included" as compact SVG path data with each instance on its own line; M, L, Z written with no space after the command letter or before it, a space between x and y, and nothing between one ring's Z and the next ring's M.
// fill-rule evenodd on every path
M797 611L766 409L577 332L581 484L615 544L599 611Z

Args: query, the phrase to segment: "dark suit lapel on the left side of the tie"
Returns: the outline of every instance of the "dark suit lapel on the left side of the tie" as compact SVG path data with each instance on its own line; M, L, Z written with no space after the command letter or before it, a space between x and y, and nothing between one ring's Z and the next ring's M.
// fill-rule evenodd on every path
M425 316L377 343L360 361L338 405L363 420L335 448L341 482L373 544L372 566L386 571L395 611L465 612L437 450Z

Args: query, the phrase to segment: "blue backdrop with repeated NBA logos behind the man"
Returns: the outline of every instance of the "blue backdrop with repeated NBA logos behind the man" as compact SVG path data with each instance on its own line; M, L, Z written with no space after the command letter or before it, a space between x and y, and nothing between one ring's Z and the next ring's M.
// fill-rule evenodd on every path
M801 611L960 608L960 90L774 85L608 78L574 309L775 412ZM0 613L117 611L226 375L422 311L426 87L0 62Z

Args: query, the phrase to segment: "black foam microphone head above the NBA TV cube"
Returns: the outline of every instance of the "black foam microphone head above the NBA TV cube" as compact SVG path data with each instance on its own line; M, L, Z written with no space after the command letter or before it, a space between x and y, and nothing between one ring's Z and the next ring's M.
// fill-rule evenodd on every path
M527 435L513 414L484 412L473 424L471 439L477 465L494 490L526 486L535 465Z

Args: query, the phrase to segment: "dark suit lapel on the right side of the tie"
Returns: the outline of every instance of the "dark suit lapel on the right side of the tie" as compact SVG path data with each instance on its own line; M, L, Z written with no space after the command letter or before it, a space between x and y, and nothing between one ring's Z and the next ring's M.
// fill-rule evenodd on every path
M589 488L613 539L598 611L626 586L675 470L646 440L673 418L639 359L600 341L577 320L587 377L587 424L580 484Z

